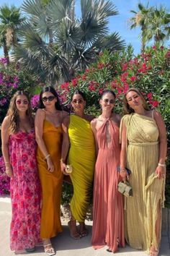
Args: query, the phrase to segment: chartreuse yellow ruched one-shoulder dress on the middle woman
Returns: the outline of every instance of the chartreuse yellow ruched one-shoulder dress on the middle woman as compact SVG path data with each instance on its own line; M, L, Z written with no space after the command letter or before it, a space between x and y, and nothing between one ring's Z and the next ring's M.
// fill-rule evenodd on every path
M86 218L94 178L94 135L90 122L76 115L70 116L68 135L71 143L68 163L73 166L73 172L70 174L73 183L71 213L73 218L83 222Z

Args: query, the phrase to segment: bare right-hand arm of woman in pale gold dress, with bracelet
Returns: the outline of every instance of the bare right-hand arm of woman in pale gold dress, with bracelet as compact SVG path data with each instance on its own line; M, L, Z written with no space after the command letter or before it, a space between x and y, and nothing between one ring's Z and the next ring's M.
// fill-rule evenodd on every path
M158 166L156 168L156 174L158 175L158 179L164 177L165 174L165 159L167 153L167 139L166 139L166 127L164 124L164 120L162 119L161 114L158 111L153 112L153 117L156 120L156 124L158 126L158 140L159 140L159 157L158 157Z

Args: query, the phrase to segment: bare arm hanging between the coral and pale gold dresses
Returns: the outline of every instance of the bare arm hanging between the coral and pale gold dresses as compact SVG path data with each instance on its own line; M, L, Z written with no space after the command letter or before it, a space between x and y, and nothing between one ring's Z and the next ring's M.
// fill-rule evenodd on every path
M127 158L126 148L127 148L126 127L125 127L125 124L122 123L121 151L120 151L120 176L122 177L122 180L124 182L126 178L129 179L128 173L125 169L126 158Z

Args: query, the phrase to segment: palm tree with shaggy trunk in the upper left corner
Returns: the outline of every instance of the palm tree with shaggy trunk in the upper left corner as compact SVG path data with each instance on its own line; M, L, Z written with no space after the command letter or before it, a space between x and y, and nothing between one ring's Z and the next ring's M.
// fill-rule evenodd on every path
M12 5L0 7L0 45L4 48L4 56L9 60L9 49L17 45L17 31L24 19L20 10Z

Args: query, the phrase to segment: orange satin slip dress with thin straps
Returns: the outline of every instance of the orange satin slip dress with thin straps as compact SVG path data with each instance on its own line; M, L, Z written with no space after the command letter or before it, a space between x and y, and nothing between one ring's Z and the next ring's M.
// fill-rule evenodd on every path
M61 227L61 189L63 174L61 172L62 129L44 120L43 140L54 164L53 173L48 171L47 162L40 148L37 149L37 165L42 187L42 211L40 236L49 239L62 231Z

